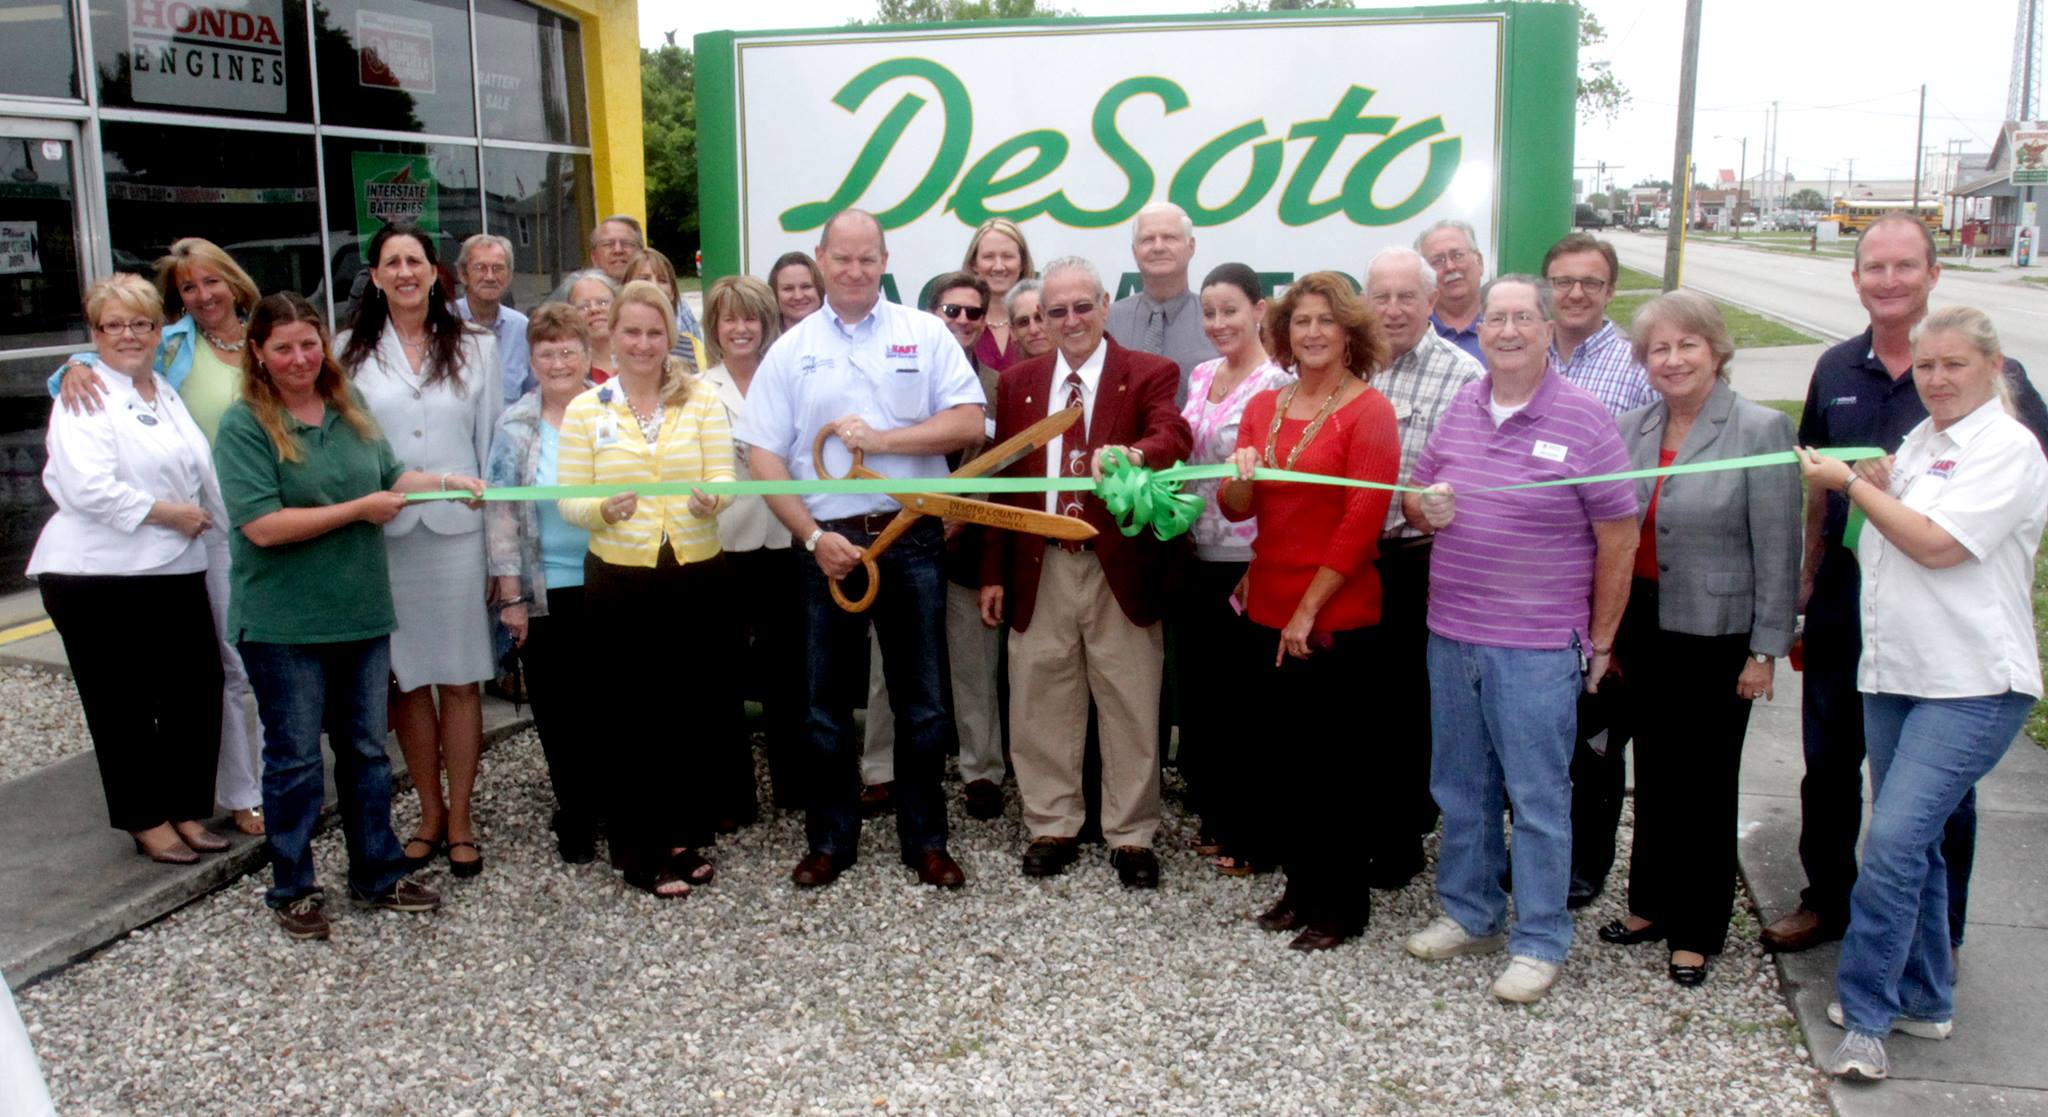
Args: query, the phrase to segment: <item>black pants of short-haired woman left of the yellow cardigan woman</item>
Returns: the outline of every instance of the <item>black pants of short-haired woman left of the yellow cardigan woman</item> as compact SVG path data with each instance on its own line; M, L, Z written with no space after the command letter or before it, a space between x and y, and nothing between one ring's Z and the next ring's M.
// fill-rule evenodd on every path
M590 646L586 611L584 586L547 590L547 615L528 623L518 650L532 728L555 785L555 832L563 836L594 834L600 816L592 736L602 721L592 717L590 699L610 670Z

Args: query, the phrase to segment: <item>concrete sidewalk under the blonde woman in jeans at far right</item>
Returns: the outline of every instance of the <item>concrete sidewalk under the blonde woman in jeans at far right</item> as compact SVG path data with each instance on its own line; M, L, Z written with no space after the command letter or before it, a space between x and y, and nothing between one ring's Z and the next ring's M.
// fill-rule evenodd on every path
M1800 678L1778 668L1778 699L1757 703L1743 752L1741 859L1763 920L1798 906ZM1894 1035L1892 1078L1833 1082L1843 1117L1933 1117L1950 1113L2048 1117L2048 750L2021 738L1976 789L1976 873L1956 986L1956 1035L1946 1041ZM1866 812L1868 816L1868 812ZM1620 881L1610 881L1618 885ZM1753 935L1753 930L1751 930ZM1841 1043L1827 1023L1835 998L1837 943L1778 955L1792 1010L1815 1064Z

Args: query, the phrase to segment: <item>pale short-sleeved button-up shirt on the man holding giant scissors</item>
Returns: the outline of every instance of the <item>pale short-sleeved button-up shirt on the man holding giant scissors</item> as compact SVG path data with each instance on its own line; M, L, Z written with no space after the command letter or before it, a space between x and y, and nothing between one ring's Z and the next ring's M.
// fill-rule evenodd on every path
M877 430L915 426L961 404L987 406L981 377L942 318L877 299L848 326L827 299L768 346L748 387L748 410L733 437L788 465L791 478L815 480L817 432L850 414ZM854 455L825 439L825 469L846 473ZM946 455L870 453L866 467L889 478L944 478ZM805 496L813 519L836 521L897 506L879 492Z

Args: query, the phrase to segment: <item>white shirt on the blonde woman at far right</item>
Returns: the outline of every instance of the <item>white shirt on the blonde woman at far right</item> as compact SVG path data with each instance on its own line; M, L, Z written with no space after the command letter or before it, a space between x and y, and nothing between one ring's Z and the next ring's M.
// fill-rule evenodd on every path
M1948 430L1923 420L1892 461L1892 496L1956 537L1970 557L1929 570L1876 525L1855 545L1864 572L1864 660L1855 687L1919 699L2042 695L2034 644L2034 551L2048 521L2048 461L1991 400Z

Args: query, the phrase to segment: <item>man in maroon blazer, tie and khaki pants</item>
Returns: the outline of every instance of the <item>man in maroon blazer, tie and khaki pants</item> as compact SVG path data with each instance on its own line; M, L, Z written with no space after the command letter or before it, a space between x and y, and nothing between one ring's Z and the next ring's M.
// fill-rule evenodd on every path
M1016 478L1100 478L1102 457L1139 465L1188 457L1192 435L1174 406L1180 367L1104 336L1108 293L1094 264L1065 256L1044 266L1044 316L1057 348L1012 365L995 389L995 441L1049 412L1079 406L1083 420L1008 469ZM1018 773L1030 846L1024 875L1073 863L1085 814L1081 754L1087 701L1102 740L1102 836L1130 887L1159 883L1159 631L1186 537L1124 537L1094 492L999 496L1024 508L1085 519L1098 535L1061 543L989 531L981 555L981 619L1010 617L1010 762Z

